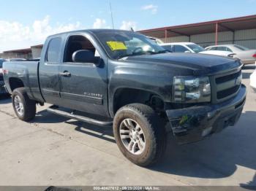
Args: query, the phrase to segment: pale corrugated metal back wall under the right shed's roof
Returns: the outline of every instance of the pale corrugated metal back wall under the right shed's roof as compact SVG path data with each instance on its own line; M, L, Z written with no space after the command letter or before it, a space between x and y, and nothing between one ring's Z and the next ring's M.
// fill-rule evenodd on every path
M218 44L240 44L244 47L256 49L256 28L235 31L235 41L233 42L233 32L219 32ZM165 42L165 39L162 39ZM188 36L175 36L166 39L166 42L189 42ZM190 36L190 42L195 42L203 47L208 47L215 44L215 33L211 34L196 34Z

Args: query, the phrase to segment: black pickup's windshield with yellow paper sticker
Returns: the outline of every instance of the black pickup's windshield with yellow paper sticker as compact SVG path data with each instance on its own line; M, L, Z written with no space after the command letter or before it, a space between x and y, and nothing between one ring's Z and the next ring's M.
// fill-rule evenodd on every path
M132 31L94 31L111 58L167 52L156 42Z

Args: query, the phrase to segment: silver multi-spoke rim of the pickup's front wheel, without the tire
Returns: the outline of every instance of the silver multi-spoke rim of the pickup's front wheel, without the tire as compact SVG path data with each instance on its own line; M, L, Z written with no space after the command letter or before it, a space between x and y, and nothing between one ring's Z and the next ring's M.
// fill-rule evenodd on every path
M124 147L133 155L140 155L144 151L146 147L145 135L135 120L124 119L119 126L119 135Z

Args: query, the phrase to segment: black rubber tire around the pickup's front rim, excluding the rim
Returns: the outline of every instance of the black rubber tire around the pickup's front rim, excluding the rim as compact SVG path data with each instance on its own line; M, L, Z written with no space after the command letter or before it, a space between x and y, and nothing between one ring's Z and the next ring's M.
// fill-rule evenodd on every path
M119 127L124 119L132 119L138 122L145 134L145 149L140 155L129 152L121 141ZM140 166L149 166L157 163L166 148L165 122L154 110L144 104L129 104L121 107L116 112L113 120L113 133L118 148L127 159Z

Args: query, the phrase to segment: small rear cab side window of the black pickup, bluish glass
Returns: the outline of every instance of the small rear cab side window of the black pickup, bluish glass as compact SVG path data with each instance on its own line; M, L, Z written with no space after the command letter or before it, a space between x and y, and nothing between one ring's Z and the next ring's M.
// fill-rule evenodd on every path
M59 62L59 55L61 51L61 38L56 37L50 40L48 44L46 61L49 63Z

